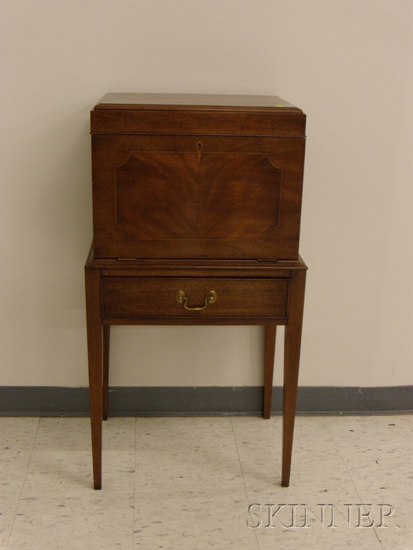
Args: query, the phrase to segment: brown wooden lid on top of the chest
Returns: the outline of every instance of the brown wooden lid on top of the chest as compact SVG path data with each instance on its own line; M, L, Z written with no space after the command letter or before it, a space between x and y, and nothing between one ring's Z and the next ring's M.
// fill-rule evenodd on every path
M107 94L91 133L303 136L305 115L278 96Z

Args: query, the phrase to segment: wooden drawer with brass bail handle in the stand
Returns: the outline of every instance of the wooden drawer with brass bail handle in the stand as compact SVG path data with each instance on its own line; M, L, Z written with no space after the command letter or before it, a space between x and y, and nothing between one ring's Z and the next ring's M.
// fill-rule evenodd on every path
M287 278L103 277L104 318L284 318Z

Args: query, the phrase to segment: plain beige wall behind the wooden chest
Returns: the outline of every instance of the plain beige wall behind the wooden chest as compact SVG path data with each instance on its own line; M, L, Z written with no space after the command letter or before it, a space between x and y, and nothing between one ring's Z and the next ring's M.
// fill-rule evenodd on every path
M108 91L278 94L304 109L300 382L413 384L411 0L1 10L0 385L87 384L88 118ZM262 384L262 343L260 327L115 327L111 384Z

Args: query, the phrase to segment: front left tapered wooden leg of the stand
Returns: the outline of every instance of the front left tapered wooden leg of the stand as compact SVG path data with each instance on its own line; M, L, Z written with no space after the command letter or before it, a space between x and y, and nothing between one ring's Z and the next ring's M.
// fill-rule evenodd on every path
M93 457L93 487L102 487L103 338L100 314L100 271L85 270L89 398Z

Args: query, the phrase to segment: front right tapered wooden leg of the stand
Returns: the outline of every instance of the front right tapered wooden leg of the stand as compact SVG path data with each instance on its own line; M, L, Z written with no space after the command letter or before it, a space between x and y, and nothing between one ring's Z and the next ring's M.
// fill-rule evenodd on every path
M298 369L304 311L306 270L291 272L288 321L284 336L284 390L282 402L282 487L288 487L291 471L291 453L297 402Z

